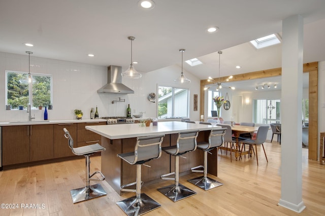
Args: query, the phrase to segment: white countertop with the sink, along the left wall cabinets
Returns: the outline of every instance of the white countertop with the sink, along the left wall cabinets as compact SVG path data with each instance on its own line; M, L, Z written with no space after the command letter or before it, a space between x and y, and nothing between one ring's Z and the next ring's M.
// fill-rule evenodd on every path
M96 119L63 119L63 120L32 120L32 121L3 121L0 122L0 126L13 126L13 125L33 125L33 124L63 124L63 123L85 123L85 122L99 122L107 121L106 119L96 118Z

